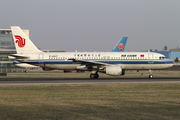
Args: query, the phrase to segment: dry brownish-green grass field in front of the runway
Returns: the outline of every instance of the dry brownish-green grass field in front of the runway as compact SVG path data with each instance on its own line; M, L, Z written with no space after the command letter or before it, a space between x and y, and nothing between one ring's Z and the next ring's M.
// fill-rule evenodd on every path
M0 86L0 119L180 119L180 83Z

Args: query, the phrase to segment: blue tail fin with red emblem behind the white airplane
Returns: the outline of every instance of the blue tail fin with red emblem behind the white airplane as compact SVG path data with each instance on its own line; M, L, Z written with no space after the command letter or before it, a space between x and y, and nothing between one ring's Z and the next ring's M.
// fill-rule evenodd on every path
M124 52L126 41L128 37L122 37L122 39L118 42L118 44L114 47L111 52Z

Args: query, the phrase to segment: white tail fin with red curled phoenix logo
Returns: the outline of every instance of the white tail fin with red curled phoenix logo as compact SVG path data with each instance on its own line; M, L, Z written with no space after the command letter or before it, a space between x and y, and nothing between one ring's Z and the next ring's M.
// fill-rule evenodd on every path
M17 54L42 52L31 42L19 26L11 26L11 31Z

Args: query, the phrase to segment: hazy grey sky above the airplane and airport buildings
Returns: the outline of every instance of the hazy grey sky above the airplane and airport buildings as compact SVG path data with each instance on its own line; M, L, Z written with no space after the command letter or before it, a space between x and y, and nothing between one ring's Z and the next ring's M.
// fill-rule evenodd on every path
M1 0L0 29L29 29L41 49L125 51L180 47L180 0Z

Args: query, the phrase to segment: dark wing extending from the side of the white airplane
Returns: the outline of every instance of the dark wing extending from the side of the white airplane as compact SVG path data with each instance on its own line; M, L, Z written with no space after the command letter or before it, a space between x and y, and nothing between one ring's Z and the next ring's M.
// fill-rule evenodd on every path
M80 63L81 65L87 65L87 66L107 66L110 64L103 63L103 62L95 62L90 60L77 60L77 59L68 59L72 60L74 63Z

